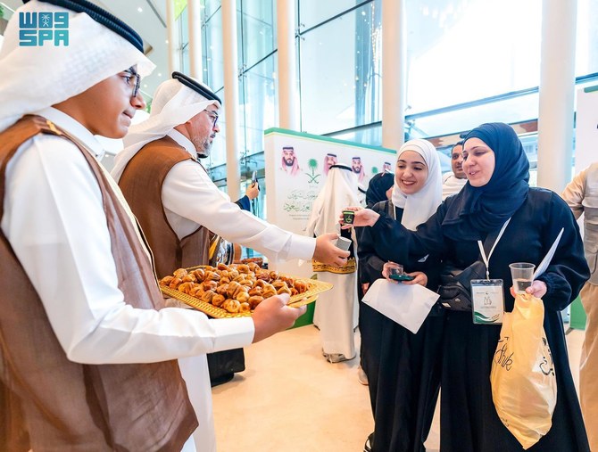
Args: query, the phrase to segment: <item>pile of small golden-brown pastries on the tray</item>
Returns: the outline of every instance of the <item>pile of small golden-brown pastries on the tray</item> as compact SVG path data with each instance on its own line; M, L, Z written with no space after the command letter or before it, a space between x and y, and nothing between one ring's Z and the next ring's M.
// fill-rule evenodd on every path
M293 296L309 289L303 280L264 270L253 262L218 264L218 267L205 266L190 271L179 268L171 276L163 277L160 284L232 314L250 312L262 300L278 293Z

